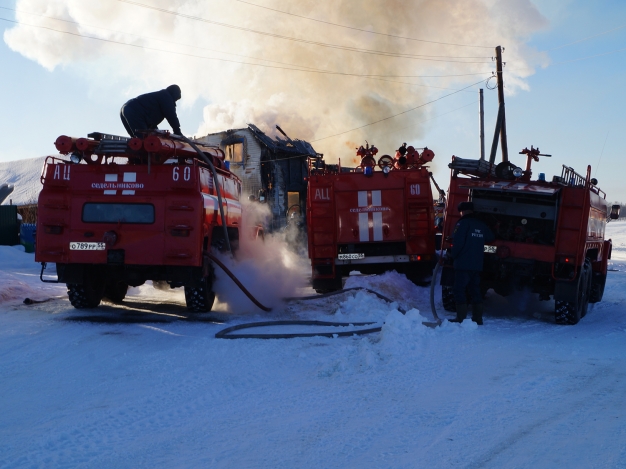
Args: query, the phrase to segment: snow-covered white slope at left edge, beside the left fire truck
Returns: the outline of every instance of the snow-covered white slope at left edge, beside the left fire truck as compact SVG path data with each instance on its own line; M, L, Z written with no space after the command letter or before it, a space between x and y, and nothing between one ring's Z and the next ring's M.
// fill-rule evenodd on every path
M9 205L10 200L13 205L37 203L42 187L39 178L45 160L46 157L42 156L0 163L0 185L8 183L14 187L2 205Z

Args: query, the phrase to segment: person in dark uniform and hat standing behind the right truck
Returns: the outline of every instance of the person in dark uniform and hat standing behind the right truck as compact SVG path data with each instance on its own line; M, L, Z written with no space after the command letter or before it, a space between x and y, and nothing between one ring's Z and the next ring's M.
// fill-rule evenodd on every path
M474 215L472 202L458 206L461 219L454 227L451 257L454 261L454 301L456 318L450 322L463 322L467 317L466 289L472 300L472 321L483 324L483 300L480 291L480 274L483 270L485 243L494 240L487 225Z

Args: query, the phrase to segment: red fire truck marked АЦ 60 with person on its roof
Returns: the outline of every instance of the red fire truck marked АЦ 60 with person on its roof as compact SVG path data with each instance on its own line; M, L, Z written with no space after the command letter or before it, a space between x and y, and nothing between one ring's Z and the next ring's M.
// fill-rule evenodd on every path
M147 280L184 287L192 311L210 311L212 246L236 249L241 183L219 148L164 131L141 138L60 136L69 160L41 175L35 260L56 263L76 308L124 299Z

